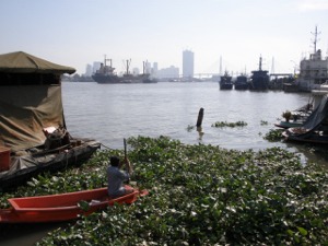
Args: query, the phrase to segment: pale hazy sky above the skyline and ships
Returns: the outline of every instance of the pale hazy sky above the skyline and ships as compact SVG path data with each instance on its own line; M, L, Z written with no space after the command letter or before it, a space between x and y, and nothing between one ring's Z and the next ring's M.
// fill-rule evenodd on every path
M293 72L314 49L327 56L328 0L0 0L0 54L25 51L71 66L124 60L180 69L195 52L195 72Z

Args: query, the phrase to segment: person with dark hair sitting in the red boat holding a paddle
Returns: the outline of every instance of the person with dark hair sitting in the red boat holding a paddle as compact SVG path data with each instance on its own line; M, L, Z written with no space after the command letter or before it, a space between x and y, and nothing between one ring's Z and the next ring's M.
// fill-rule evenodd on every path
M120 169L126 166L126 171ZM120 161L117 156L110 157L110 165L107 168L107 183L108 183L108 195L112 198L125 196L133 192L133 189L125 187L124 181L128 181L132 175L132 165L126 157Z

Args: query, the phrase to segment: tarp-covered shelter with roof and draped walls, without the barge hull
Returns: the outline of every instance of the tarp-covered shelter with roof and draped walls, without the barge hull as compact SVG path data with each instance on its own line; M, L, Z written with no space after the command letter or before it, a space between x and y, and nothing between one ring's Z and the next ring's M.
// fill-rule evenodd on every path
M0 55L0 147L40 145L45 128L65 125L60 74L74 71L22 51Z

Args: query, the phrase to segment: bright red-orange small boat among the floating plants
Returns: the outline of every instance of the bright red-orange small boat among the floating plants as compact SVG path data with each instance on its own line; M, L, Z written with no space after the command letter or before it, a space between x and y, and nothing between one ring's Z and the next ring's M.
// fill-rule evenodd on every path
M127 186L129 187L129 186ZM131 188L131 187L129 187ZM0 210L0 223L58 222L89 215L115 203L132 203L148 190L110 199L107 187L77 192L8 199L12 208Z

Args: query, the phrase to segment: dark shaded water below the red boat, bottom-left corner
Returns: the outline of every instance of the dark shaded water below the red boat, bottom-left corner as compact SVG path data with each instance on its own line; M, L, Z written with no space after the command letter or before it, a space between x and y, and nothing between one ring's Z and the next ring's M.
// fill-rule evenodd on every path
M0 224L1 246L32 246L49 232L65 227L68 223L37 223L37 224Z

